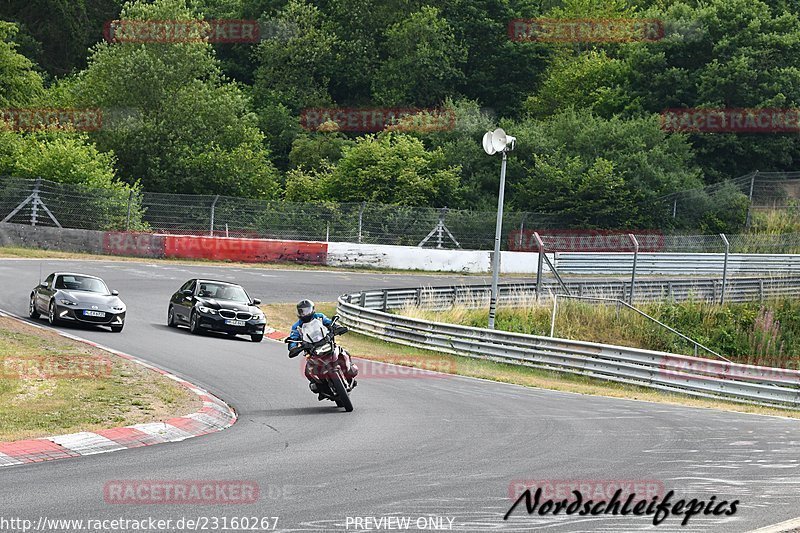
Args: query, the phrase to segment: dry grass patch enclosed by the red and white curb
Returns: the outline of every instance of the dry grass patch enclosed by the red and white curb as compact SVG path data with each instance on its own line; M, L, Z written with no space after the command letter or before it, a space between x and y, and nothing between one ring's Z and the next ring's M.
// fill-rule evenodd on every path
M156 372L0 317L0 441L165 420L201 406Z

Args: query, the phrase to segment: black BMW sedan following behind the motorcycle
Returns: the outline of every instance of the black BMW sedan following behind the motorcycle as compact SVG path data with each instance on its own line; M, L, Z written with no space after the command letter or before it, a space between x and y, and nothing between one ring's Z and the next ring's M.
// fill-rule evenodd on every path
M267 319L256 307L260 303L235 283L190 279L170 298L167 325L174 328L185 324L192 333L250 335L253 342L261 342Z

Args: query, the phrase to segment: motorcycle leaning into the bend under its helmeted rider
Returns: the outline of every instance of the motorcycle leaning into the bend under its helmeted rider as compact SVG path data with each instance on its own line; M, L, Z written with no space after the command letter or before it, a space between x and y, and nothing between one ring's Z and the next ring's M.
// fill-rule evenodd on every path
M330 328L327 328L321 319L315 318L301 327L301 340L286 337L284 342L299 343L289 349L289 357L303 354L306 368L317 383L317 392L349 413L353 410L349 393L355 380L347 379L339 364L342 348L336 344L336 336L347 333L348 329L336 324L338 320L339 316L334 316Z

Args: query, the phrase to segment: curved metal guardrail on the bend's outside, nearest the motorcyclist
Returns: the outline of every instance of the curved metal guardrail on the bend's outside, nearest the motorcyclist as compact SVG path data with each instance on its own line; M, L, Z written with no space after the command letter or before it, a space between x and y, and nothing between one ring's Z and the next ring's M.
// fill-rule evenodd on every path
M749 285L740 288L752 287L754 282L757 280L748 280ZM731 290L734 284L729 285ZM792 284L796 295L800 279L794 278ZM407 346L697 397L800 408L797 370L428 322L386 312L407 305L438 309L453 302L468 304L483 298L486 291L486 286L362 291L341 296L338 313L343 323L358 333ZM524 289L520 291L519 286L503 286L500 300L519 302L526 297Z

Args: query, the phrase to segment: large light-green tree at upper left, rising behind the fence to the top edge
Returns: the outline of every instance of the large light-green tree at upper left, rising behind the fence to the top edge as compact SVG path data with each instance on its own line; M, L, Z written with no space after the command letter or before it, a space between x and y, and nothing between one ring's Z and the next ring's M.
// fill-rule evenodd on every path
M130 20L195 20L183 0L126 5ZM124 73L124 75L122 74ZM101 43L73 83L76 100L107 110L95 134L120 175L146 190L273 197L270 161L249 98L220 73L208 43Z

